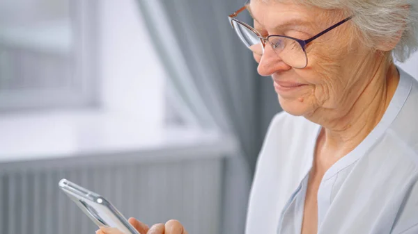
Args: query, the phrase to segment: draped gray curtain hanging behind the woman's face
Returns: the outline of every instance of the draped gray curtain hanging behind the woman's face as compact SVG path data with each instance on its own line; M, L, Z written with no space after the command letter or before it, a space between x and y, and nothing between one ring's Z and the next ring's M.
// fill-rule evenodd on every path
M138 1L170 86L194 122L219 128L240 142L240 151L225 162L221 230L244 233L249 187L265 130L261 121L270 121L279 110L277 104L261 104L265 85L256 75L256 62L227 19L245 1Z

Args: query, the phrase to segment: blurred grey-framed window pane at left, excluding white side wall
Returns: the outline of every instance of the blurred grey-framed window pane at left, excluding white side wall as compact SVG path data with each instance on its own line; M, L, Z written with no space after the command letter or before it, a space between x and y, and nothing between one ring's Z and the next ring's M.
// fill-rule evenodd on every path
M0 111L97 102L96 1L0 1Z

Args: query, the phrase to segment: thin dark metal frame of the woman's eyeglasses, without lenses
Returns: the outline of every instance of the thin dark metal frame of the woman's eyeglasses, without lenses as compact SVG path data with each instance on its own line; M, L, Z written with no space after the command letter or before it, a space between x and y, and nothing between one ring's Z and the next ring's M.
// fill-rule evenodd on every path
M347 17L346 19L341 20L340 22L338 22L338 23L336 23L336 24L334 24L334 25L330 26L330 28L325 29L324 31L322 31L322 32L320 32L320 33L318 33L318 34L314 35L313 37L311 37L311 38L309 38L309 39L307 39L307 40L300 40L300 39L298 39L298 38L295 38L295 37L288 37L288 36L286 36L286 35L268 35L268 37L263 37L263 36L261 36L261 35L260 35L260 33L258 33L258 32L257 32L257 31L253 28L253 27L249 26L248 24L245 24L244 22L240 22L238 19L235 19L235 17L237 17L237 16L238 16L238 14L240 14L240 12L242 12L242 11L246 10L246 9L247 9L247 7L248 7L247 5L246 5L246 6L243 6L242 8L240 8L240 10L237 10L237 11L233 12L231 15L229 15L229 16L228 16L229 21L230 21L230 23L231 23L231 26L232 26L233 28L235 28L235 27L233 26L233 21L235 21L235 22L237 22L238 24L241 24L242 26L245 26L245 27L246 27L246 28L248 28L250 31L254 32L254 33L258 36L258 38L261 40L261 44L263 44L263 53L264 53L265 44L267 44L267 42L269 42L269 40L268 40L268 39L269 39L270 37L285 37L285 38L288 38L288 39L295 40L296 42L298 42L298 43L300 44L300 46L302 47L302 49L303 49L303 51L304 51L304 53L305 53L305 57L307 58L306 65L305 65L304 67L300 67L299 69L304 69L304 68L305 68L305 67L307 67L307 65L308 65L308 55L307 55L306 47L307 47L307 45L308 45L309 43L311 43L312 41L316 40L318 37L320 37L320 36L324 35L325 33L328 33L329 31L332 31L332 29L334 29L334 28L336 28L336 27L338 27L338 26L341 26L341 24L344 24L344 23L348 22L350 19L353 19L353 17L354 17L354 15L352 15L352 16L350 16L350 17ZM269 42L269 44L270 44L270 42Z

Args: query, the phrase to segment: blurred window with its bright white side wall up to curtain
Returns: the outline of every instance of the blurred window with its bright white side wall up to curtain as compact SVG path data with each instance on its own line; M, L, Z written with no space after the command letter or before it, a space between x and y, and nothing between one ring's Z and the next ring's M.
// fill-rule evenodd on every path
M0 114L139 105L184 125L141 21L136 0L0 1Z

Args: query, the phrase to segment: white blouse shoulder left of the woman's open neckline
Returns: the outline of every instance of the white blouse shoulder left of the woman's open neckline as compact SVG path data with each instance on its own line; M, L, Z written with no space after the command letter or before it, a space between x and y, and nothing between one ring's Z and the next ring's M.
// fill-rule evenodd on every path
M288 197L300 182L304 142L314 138L315 124L280 112L270 122L258 156L249 194L246 233L274 233ZM313 137L312 137L313 136Z

